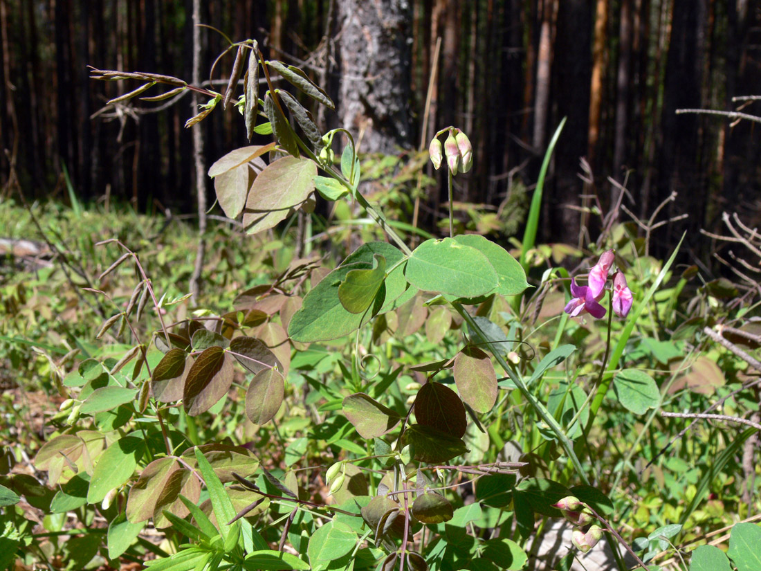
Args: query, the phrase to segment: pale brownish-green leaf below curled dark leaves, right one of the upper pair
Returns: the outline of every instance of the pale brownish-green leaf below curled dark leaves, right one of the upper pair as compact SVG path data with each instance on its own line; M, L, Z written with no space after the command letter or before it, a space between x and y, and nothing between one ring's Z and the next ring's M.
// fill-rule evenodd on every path
M249 234L269 230L285 220L314 192L317 165L307 158L283 157L256 176L248 193L243 224Z

